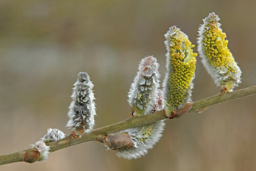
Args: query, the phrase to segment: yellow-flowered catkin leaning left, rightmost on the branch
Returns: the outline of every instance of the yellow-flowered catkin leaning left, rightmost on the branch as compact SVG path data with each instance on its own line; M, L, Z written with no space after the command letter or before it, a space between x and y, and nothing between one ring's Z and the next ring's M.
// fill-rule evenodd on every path
M227 48L226 34L218 23L219 16L214 12L199 27L198 52L207 72L222 90L231 92L240 83L241 70Z

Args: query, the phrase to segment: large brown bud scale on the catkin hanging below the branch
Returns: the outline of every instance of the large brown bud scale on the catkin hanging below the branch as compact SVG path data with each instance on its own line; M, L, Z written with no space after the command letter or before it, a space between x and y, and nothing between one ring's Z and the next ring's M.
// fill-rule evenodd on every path
M133 148L130 135L127 132L108 134L105 138L106 145L111 149Z

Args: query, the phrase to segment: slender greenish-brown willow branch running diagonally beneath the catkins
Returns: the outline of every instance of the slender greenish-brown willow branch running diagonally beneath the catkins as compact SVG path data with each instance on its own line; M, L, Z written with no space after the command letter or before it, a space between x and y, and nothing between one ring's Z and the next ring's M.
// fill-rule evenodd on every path
M210 105L214 105L217 103L222 103L225 101L230 101L233 99L238 99L250 95L256 94L256 86L252 86L249 88L228 92L228 93L219 93L217 95L208 97L206 99L202 99L199 101L194 102L192 108L188 111L188 113L191 112L200 112L202 109L207 108ZM127 114L128 116L128 114ZM174 115L173 118L176 118L177 115ZM130 129L132 127L137 127L149 123L153 123L156 121L167 119L163 115L163 111L158 111L153 114L145 115L136 117L133 116L129 119L126 119L124 121L114 123L108 126L101 127L99 129L93 130L88 134L82 135L80 138L77 138L74 134L70 134L69 136L62 138L58 141L46 143L48 146L50 146L50 152L55 152L59 149L66 148L72 145L80 144L83 142L88 141L102 141L103 136L119 132L122 130ZM2 164L8 164L8 163L14 163L18 161L25 161L25 154L31 151L31 149L25 149L20 152L15 152L11 154L6 155L0 155L0 165Z

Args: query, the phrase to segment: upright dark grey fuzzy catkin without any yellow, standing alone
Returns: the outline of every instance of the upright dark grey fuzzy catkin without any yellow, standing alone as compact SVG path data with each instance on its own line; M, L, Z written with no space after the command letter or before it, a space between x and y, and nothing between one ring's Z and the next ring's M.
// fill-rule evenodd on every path
M94 85L86 72L80 72L74 86L67 126L73 127L76 135L81 135L83 132L91 131L94 126Z

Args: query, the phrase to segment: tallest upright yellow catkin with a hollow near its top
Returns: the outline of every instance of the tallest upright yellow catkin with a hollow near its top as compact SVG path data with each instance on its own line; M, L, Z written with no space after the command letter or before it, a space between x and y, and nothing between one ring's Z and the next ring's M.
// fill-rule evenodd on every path
M165 115L181 108L191 101L192 80L195 77L196 53L193 53L187 35L176 26L170 27L164 35L166 53L166 69L163 82L163 99Z

